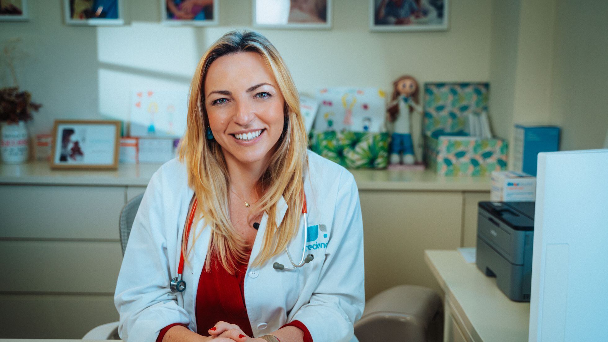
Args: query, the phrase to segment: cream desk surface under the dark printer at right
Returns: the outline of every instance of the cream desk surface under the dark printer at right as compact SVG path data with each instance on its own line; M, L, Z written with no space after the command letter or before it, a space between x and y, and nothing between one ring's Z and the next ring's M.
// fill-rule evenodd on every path
M527 341L530 303L507 298L456 250L426 250L424 261L476 340Z

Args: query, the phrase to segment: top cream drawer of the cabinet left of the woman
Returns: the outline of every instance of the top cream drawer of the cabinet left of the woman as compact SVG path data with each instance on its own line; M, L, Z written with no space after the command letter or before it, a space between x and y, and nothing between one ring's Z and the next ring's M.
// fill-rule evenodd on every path
M118 240L124 186L0 185L0 238Z

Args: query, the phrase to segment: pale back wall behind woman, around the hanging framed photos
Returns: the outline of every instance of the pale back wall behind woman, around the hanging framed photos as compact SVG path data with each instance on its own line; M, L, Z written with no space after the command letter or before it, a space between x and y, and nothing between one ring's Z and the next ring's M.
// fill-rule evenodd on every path
M252 1L221 0L219 26L167 27L157 0L125 1L120 27L63 24L59 0L29 0L30 21L0 22L0 41L21 37L32 58L19 82L44 105L30 133L56 118L128 118L137 87L186 89L204 50L231 29L251 27ZM402 74L425 81L488 81L491 1L451 1L447 32L371 33L367 0L334 0L331 30L261 29L301 92L320 86L389 90ZM0 86L10 85L0 78ZM491 95L492 97L492 95Z

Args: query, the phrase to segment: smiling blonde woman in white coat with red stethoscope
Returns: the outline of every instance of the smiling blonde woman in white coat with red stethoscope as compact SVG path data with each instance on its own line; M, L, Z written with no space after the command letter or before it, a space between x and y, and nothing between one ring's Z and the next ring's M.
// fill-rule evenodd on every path
M218 39L192 80L180 158L154 174L133 223L114 297L123 340L357 341L357 186L306 142L275 47L255 32ZM187 287L172 292L182 253Z

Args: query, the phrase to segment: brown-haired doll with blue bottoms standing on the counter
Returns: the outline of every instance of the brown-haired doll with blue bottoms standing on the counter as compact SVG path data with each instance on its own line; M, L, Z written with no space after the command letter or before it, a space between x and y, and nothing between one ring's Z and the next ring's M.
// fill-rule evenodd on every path
M406 75L393 83L393 98L389 104L388 120L393 123L390 143L390 163L415 163L410 115L422 112L418 104L418 81Z

